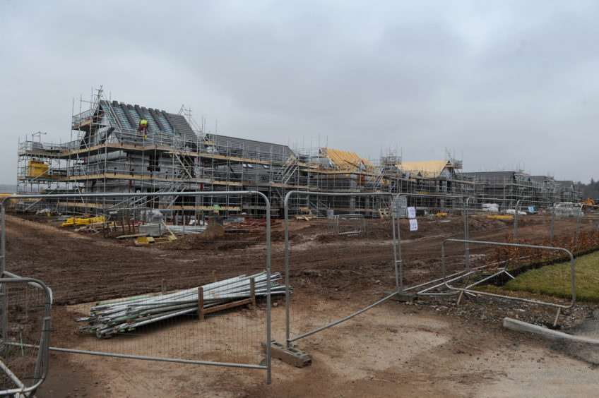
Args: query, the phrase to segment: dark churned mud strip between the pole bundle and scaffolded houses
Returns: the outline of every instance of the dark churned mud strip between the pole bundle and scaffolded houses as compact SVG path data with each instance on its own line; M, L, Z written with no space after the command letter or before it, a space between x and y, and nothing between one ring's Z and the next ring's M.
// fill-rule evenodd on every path
M42 219L44 220L44 219ZM472 216L470 239L504 241L513 234L511 220ZM583 219L582 230L596 229L596 220ZM518 236L540 240L549 235L550 217L520 217ZM6 269L17 275L39 278L54 292L55 303L81 303L117 298L131 289L158 289L165 279L169 289L207 283L215 270L219 279L240 273L260 272L266 267L266 234L226 234L218 241L186 236L171 244L134 246L131 240L103 239L101 234L80 234L9 215L6 219ZM555 234L576 231L576 219L559 219ZM393 231L390 220L369 219L359 235L331 235L327 220L290 222L290 277L307 270L320 277L310 287L326 294L329 287L352 283L355 291L372 284L364 275L393 285ZM418 231L409 231L401 220L401 254L406 287L441 275L441 242L463 239L463 218L421 219ZM284 271L283 225L273 229L273 272ZM492 248L471 246L470 254L489 253ZM463 245L448 244L449 270L461 269ZM340 278L340 273L344 277ZM371 278L372 279L372 278ZM324 289L324 290L323 290Z

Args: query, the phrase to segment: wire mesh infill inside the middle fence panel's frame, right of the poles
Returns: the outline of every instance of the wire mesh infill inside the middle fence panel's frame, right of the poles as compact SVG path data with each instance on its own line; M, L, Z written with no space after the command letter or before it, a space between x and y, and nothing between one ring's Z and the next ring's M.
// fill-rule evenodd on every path
M287 196L287 199L292 200L292 197ZM292 235L287 248L292 287L288 318L290 340L343 320L396 292L393 219L388 216L390 198L386 195L333 194L327 197L314 194L309 197L309 203L311 218L297 216L299 222L310 219L307 231L299 232L310 236L309 241L293 238L299 236L294 229L304 229L302 224L294 222L287 227L287 234ZM377 210L383 203L389 211L380 215ZM356 207L367 214L353 214ZM326 250L310 241L325 243ZM323 295L326 300L321 299Z

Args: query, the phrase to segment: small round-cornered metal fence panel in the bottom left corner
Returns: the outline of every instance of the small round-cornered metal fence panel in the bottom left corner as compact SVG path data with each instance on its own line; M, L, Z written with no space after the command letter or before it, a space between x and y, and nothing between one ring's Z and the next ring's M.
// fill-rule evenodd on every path
M32 397L48 374L52 292L37 279L0 278L0 396Z

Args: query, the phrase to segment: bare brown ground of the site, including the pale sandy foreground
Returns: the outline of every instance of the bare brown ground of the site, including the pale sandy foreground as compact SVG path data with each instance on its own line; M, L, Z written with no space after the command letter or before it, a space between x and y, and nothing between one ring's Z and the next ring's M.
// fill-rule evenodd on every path
M595 230L597 223L584 217L581 229ZM549 235L550 217L523 216L518 224L523 238ZM6 231L8 270L45 282L54 293L52 325L72 324L72 334L78 325L71 308L129 296L123 281L160 284L165 279L170 289L182 289L210 282L213 270L225 279L239 270L260 272L265 267L264 231L225 234L216 242L186 236L168 244L134 246L60 228L42 217L23 221L15 215L7 216ZM470 239L504 241L513 231L513 220L470 219ZM556 224L556 234L574 231L575 218ZM290 222L294 310L311 308L315 298L367 306L392 291L392 235L389 219L369 219L357 235L331 234L328 220ZM284 270L283 238L283 224L278 224L271 234L273 272ZM403 219L401 239L405 286L439 278L441 242L463 239L463 218L422 218L418 231L409 231ZM83 243L85 251L72 250L73 241ZM471 248L470 253L477 258L490 250ZM40 258L55 258L57 252L60 260L40 266ZM463 255L463 246L448 245L448 268L462 269ZM82 283L90 280L97 285ZM273 359L271 385L266 385L264 370L52 352L49 377L37 397L588 397L598 391L599 353L594 348L502 328L506 316L549 325L554 309L482 296L463 298L459 305L456 301L456 296L386 301L300 339L295 344L314 355L312 365L294 368ZM265 305L259 301L258 310ZM273 297L272 309L273 338L283 341L282 296ZM598 316L595 306L581 303L560 315L559 326L577 333ZM69 333L53 334L50 344L61 346L61 339L71 338Z

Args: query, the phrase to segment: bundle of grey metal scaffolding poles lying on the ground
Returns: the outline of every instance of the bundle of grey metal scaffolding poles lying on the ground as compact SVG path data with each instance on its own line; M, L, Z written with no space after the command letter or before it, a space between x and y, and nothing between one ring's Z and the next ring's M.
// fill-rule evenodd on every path
M113 334L132 332L136 327L148 325L179 315L196 313L199 310L198 291L203 291L203 312L209 308L248 298L266 296L268 284L266 272L256 275L240 275L193 289L176 291L158 296L132 296L102 301L90 308L87 317L77 322L88 322L79 332L95 333L97 337L112 337ZM285 294L285 286L278 284L283 279L280 273L271 275L271 294ZM252 281L253 280L253 286Z

